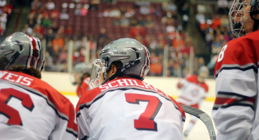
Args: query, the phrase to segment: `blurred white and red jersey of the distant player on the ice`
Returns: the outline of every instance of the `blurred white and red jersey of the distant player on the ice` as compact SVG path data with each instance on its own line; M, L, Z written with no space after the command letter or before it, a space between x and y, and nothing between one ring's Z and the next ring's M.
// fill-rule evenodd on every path
M199 109L201 103L208 95L208 86L205 82L199 83L197 75L187 75L181 80L181 92L177 102L183 105L189 105Z

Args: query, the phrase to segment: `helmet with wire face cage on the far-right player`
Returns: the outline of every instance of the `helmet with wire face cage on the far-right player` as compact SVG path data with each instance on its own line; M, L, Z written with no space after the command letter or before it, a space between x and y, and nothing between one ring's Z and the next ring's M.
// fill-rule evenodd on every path
M259 3L259 0L250 0L250 2L249 0L233 1L233 4L229 10L229 23L230 23L231 31L236 37L241 37L246 35L244 33L244 25L246 24L249 18L254 20L253 31L258 30L259 20L255 19L254 17L254 15L259 14L258 3ZM244 9L244 7L247 5L251 6L250 11ZM248 12L250 16L243 17L245 12Z

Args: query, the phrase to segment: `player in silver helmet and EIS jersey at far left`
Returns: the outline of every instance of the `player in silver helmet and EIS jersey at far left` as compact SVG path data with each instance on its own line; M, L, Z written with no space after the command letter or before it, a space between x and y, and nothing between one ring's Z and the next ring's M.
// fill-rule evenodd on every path
M36 37L17 32L0 44L0 139L76 140L74 107L40 80L43 64Z

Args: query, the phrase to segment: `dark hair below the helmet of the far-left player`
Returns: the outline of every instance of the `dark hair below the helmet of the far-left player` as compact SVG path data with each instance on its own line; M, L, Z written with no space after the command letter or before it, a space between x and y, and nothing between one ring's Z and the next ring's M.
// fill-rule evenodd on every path
M31 75L33 77L41 79L41 71L34 67L25 67L21 65L11 65L7 68L7 71L16 71L16 72L22 72L26 73L28 75Z

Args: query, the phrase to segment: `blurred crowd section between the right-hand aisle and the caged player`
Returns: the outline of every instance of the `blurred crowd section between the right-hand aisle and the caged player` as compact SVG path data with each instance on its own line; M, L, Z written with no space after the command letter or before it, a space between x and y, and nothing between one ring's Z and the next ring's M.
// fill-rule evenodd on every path
M205 5L197 5L196 23L203 33L206 41L206 48L211 52L211 59L208 63L211 75L221 48L230 40L236 37L231 33L229 27L228 11L233 0L218 0L216 12Z

